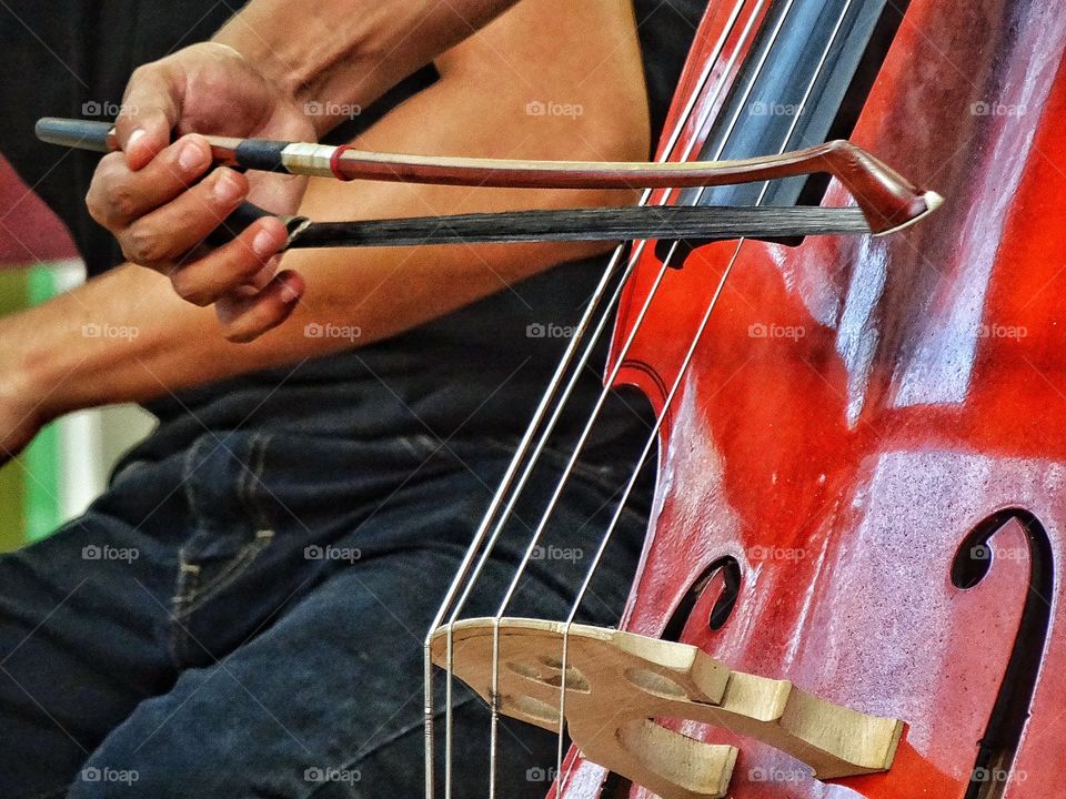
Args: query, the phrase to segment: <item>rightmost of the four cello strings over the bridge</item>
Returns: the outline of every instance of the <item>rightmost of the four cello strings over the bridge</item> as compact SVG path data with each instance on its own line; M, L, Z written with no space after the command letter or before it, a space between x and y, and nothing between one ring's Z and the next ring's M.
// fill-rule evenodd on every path
M785 151L785 150L788 149L790 143L792 142L792 139L793 139L793 136L795 135L796 128L798 127L800 120L803 118L803 114L804 114L804 112L806 111L807 103L808 103L809 100L811 100L811 95L812 95L812 93L813 93L813 91L814 91L814 88L817 85L817 82L818 82L819 78L822 77L822 74L823 74L823 72L824 72L824 70L825 70L826 61L828 60L829 53L832 52L833 47L834 47L834 44L836 43L836 40L837 40L837 38L838 38L838 36L839 36L839 32L841 32L841 29L843 28L844 21L846 20L847 14L848 14L848 12L849 12L849 10L851 10L852 3L853 3L853 0L845 0L845 2L844 2L844 7L843 7L843 9L842 9L842 11L841 11L841 14L839 14L838 19L836 20L836 23L835 23L835 26L834 26L834 28L833 28L833 32L832 32L831 36L829 36L829 41L828 41L828 43L826 44L826 47L823 49L822 55L821 55L821 58L819 58L819 60L818 60L818 63L817 63L817 67L815 68L815 71L814 71L814 75L813 75L812 79L808 81L807 87L806 87L806 90L804 91L803 98L801 99L801 101L800 101L800 103L798 103L798 105L797 105L796 113L793 115L792 122L791 122L791 124L790 124L790 127L788 127L788 131L785 133L784 143L782 144L782 151ZM763 200L765 200L766 193L767 193L768 190L770 190L770 185L771 185L770 181L767 181L766 183L763 184L763 188L762 188L762 190L760 191L758 198L757 198L756 201L755 201L755 205L762 204ZM685 357L683 358L682 364L681 364L680 368L677 370L677 376L675 377L674 383L673 383L673 385L671 386L670 393L667 394L665 401L663 402L663 409L662 409L662 412L658 414L658 416L657 416L657 418L656 418L656 421L655 421L655 426L654 426L654 428L652 429L652 433L651 433L651 435L650 435L650 437L648 437L648 439L647 439L647 442L646 442L646 444L645 444L645 446L644 446L644 451L641 453L640 459L637 461L636 467L634 468L633 474L632 474L632 476L630 477L630 481L628 481L628 483L627 483L626 486L625 486L625 489L624 489L624 492L623 492L623 494L622 494L622 497L620 498L619 504L617 504L617 506L615 507L614 515L613 515L610 524L607 525L606 533L605 533L603 539L601 540L600 547L599 547L599 549L596 550L596 554L594 555L594 557L593 557L593 559L592 559L592 562L591 562L591 564L590 564L589 570L587 570L587 573L586 573L586 575L585 575L585 579L584 579L584 581L582 583L581 589L579 590L577 596L576 596L575 599L574 599L574 604L573 604L573 606L571 607L570 615L569 615L569 617L566 618L565 627L564 627L564 629L563 629L563 654L562 654L562 658L561 658L561 661L560 661L560 663L561 663L561 672L560 672L560 674L561 674L561 677L560 677L560 710L559 710L559 712L560 712L560 719L561 719L561 721L560 721L560 726L561 726L561 727L562 727L562 725L564 724L564 719L565 719L565 708L566 708L566 672L567 672L567 656L569 656L569 650L570 650L570 633L571 633L571 629L572 629L572 627L573 627L573 625L574 625L574 620L575 620L575 618L576 618L576 616L577 616L577 610L579 610L579 608L580 608L580 606L581 606L582 600L583 600L584 597L585 597L585 594L587 593L587 590L589 590L589 588L590 588L590 586L591 586L591 584L592 584L592 579L593 579L593 577L594 577L594 575L595 575L595 572L596 572L596 569L597 569L597 567L599 567L599 565L600 565L600 562L601 562L601 559L602 559L602 557L603 557L603 555L604 555L604 553L605 553L605 550L606 550L607 544L609 544L610 539L612 538L612 536L613 536L613 534L614 534L614 530L617 528L619 522L621 520L622 513L623 513L623 510L625 509L626 503L628 502L628 498L630 498L633 489L635 488L635 486L636 486L636 484L637 484L637 482L638 482L638 479L640 479L641 471L643 469L644 464L647 462L647 458L648 458L648 456L651 455L652 449L655 447L656 439L657 439L660 429L662 428L663 422L666 419L666 416L668 415L668 409L670 409L671 405L673 404L674 397L676 396L678 390L681 388L682 383L683 383L683 381L684 381L684 376L685 376L685 374L686 374L687 371L688 371L688 366L691 365L693 358L695 357L696 351L697 351L697 348L698 348L698 344L700 344L701 340L703 338L703 334L704 334L705 331L706 331L707 324L708 324L710 321L711 321L711 316L712 316L712 314L713 314L713 312L714 312L714 309L715 309L715 306L716 306L717 303L718 303L718 300L720 300L720 297L721 297L721 295L722 295L723 290L725 289L725 282L726 282L728 275L730 275L730 274L732 273L732 271L733 271L733 267L734 267L734 265L735 265L735 263L736 263L736 261L737 261L737 257L738 257L738 255L740 255L741 249L743 247L743 244L744 244L744 241L743 241L743 240L741 240L740 242L737 242L736 249L734 250L733 255L732 255L732 257L730 259L728 264L726 265L726 269L723 271L722 277L721 277L721 280L718 281L718 284L717 284L717 286L716 286L716 289L715 289L715 292L714 292L714 294L713 294L713 296L712 296L712 299L711 299L711 302L710 302L708 305L707 305L707 310L706 310L706 312L704 313L703 318L702 318L701 322L700 322L700 325L697 326L695 336L693 337L692 343L691 343L691 345L688 346L687 352L685 353ZM561 791L562 786L564 786L564 785L566 783L566 780L569 780L570 775L571 775L571 772L572 772L572 770L573 770L573 766L574 766L574 762L572 761L572 762L571 762L571 767L570 767L570 769L567 769L566 775L565 775L564 777L562 777L562 751L561 751L562 746L561 746L561 741L562 741L562 732L560 732L560 754L559 754L559 765L556 766L556 779L557 779L557 782L556 782L556 795Z

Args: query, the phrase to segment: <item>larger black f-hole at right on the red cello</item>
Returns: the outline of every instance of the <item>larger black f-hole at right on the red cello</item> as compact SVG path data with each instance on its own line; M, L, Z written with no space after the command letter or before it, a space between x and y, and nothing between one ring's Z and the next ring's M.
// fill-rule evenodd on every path
M995 562L992 538L1010 522L1025 530L1029 545L1029 583L1022 620L1010 659L996 695L988 726L977 747L965 799L997 799L1010 778L1010 769L1029 718L1050 623L1055 569L1052 543L1040 520L1024 508L1007 508L982 520L963 540L952 563L952 583L968 589L980 584Z

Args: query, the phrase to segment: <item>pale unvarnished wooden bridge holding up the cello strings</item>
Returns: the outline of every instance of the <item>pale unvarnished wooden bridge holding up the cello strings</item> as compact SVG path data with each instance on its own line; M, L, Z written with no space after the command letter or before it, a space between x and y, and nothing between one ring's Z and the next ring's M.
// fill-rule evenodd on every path
M733 671L694 646L585 625L567 633L566 624L537 619L457 621L435 633L433 661L487 700L496 635L501 714L555 732L565 685L566 726L582 756L664 799L724 797L737 750L674 732L655 718L753 738L823 780L886 771L903 734L899 720L834 705L787 680Z

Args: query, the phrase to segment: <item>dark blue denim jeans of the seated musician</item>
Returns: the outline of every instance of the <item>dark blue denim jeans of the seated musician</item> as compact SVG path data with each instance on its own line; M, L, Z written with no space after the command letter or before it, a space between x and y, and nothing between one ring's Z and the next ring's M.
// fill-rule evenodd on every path
M82 518L0 558L0 796L419 796L423 636L510 455L285 433L134 452ZM466 615L494 611L560 468ZM534 560L510 615L564 617L617 482L579 469L543 550L570 555ZM644 524L623 515L582 620L616 620ZM455 796L484 796L487 710L457 691L454 714ZM554 746L506 724L500 796L543 796Z

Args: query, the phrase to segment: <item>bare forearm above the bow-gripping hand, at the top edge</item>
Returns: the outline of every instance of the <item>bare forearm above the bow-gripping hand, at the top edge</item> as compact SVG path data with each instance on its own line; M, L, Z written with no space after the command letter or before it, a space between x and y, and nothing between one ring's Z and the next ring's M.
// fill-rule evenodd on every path
M505 11L516 0L252 0L214 40L302 105L319 132Z

